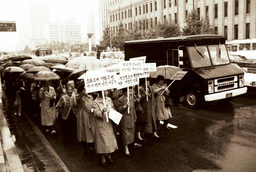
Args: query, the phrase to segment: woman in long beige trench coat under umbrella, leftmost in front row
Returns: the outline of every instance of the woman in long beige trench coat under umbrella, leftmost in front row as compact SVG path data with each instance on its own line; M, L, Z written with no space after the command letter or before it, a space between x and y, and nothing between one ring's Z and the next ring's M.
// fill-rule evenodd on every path
M51 133L56 133L53 130L53 123L55 119L55 99L56 93L53 87L49 86L49 81L43 82L44 87L39 91L39 97L41 100L41 125L45 125L45 131L48 132L51 130ZM52 107L50 106L50 102L53 102Z

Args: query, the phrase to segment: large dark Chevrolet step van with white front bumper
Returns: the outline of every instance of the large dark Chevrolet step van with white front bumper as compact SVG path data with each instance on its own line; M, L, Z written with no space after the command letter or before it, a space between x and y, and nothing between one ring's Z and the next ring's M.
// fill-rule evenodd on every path
M247 92L244 72L230 63L222 35L126 41L124 49L125 60L146 56L146 62L177 66L187 71L169 90L173 97L184 96L189 108L196 108L201 101L230 101ZM171 83L171 80L166 81L167 85Z

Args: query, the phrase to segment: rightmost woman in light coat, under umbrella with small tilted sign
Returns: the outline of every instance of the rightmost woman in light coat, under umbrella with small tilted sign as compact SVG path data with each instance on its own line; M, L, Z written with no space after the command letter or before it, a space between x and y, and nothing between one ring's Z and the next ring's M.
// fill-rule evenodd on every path
M156 104L157 104L157 129L159 128L160 120L163 120L163 126L170 130L168 125L169 120L169 114L171 113L169 107L165 107L165 100L166 96L170 94L169 89L167 88L166 84L164 84L164 76L158 75L157 83L152 85L152 88L154 90ZM164 94L161 95L161 93L164 91Z

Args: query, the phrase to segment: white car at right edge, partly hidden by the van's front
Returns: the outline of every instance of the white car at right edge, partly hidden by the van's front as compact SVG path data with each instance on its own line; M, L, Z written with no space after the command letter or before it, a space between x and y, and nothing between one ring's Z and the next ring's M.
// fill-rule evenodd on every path
M256 74L248 73L243 67L238 66L237 64L231 63L237 68L244 71L244 85L247 86L247 92L255 92L256 91Z

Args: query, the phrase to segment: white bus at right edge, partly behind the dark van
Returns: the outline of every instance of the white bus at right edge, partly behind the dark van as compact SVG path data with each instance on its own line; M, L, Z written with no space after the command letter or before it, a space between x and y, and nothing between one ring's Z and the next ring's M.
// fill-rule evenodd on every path
M256 60L256 38L228 41L229 54L240 55L248 60Z

